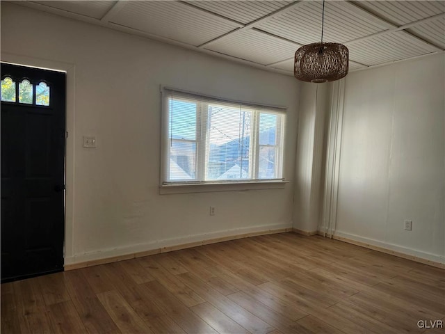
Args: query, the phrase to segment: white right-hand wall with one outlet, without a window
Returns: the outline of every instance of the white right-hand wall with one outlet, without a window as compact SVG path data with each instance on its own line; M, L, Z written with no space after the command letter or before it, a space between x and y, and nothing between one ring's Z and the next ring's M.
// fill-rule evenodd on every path
M348 74L335 234L445 262L444 73L439 54Z

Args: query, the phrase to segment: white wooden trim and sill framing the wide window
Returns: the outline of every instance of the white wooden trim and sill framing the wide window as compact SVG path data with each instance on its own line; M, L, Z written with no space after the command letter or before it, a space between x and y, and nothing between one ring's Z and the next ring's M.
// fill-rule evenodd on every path
M161 164L159 166L159 189L161 194L167 194L167 193L195 193L195 192L213 192L213 191L245 191L245 190L255 190L255 189L284 189L285 184L289 183L289 181L286 181L285 179L285 170L284 170L284 160L285 160L285 141L284 137L278 137L280 138L280 143L277 143L275 147L280 148L282 150L281 156L282 159L280 161L280 166L277 168L281 168L282 170L282 178L277 179L252 179L252 180L209 180L209 181L201 181L201 180L190 180L190 181L175 181L175 182L165 182L165 180L168 180L168 175L165 173L167 170L168 160L170 159L170 154L165 154L165 152L168 152L168 138L165 136L165 133L168 134L169 132L169 120L168 115L169 113L165 111L165 90L182 93L186 95L195 95L197 99L199 98L208 98L210 100L214 100L216 102L223 102L223 103L233 103L233 104L242 104L244 106L252 106L256 109L264 109L267 113L267 111L277 111L278 113L282 113L286 115L287 108L285 106L276 106L271 104L258 104L258 103L252 103L252 102L245 102L240 100L232 100L227 99L224 97L217 97L213 95L207 95L203 93L196 93L192 92L190 90L183 90L180 88L172 88L170 86L160 86L159 87L160 93L161 93L161 145L160 145L160 157L161 157ZM201 117L203 116L202 111L200 110ZM281 123L281 122L280 122ZM206 122L203 122L203 120L200 120L201 127L204 126ZM254 122L256 124L256 122ZM284 125L286 122L284 122ZM197 135L199 133L199 136L202 134L201 127L197 127ZM259 129L254 129L252 132L252 135L256 138L258 136L257 132ZM284 131L284 127L282 124L280 124L280 127L277 127L277 131ZM202 146L202 145L200 145ZM254 152L252 154L259 157L259 148L260 146L264 145L256 145ZM197 148L197 150L206 150L206 148ZM204 151L203 151L204 152ZM204 154L198 154L198 157L202 157L203 159ZM196 161L197 166L199 165L199 161ZM205 164L205 161L204 161ZM257 163L255 168L259 168L259 164ZM200 173L206 173L206 170L199 170L197 168L197 177ZM257 175L255 173L254 175Z

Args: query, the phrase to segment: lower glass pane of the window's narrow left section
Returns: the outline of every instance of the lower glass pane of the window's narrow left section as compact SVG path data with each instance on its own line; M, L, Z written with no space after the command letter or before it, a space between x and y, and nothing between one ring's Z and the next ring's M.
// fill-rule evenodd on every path
M170 145L170 180L196 179L196 143L172 140Z

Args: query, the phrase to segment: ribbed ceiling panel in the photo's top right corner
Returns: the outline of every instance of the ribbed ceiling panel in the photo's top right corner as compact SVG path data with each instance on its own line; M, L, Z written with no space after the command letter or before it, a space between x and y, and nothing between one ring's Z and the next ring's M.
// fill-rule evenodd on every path
M355 1L355 3L398 26L445 12L445 1Z

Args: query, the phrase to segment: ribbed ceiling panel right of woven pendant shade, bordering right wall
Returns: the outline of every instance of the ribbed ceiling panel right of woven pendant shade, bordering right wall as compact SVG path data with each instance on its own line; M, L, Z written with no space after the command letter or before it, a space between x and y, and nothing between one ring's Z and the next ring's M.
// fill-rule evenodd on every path
M378 65L437 51L405 31L396 31L347 45L349 58L365 65Z

